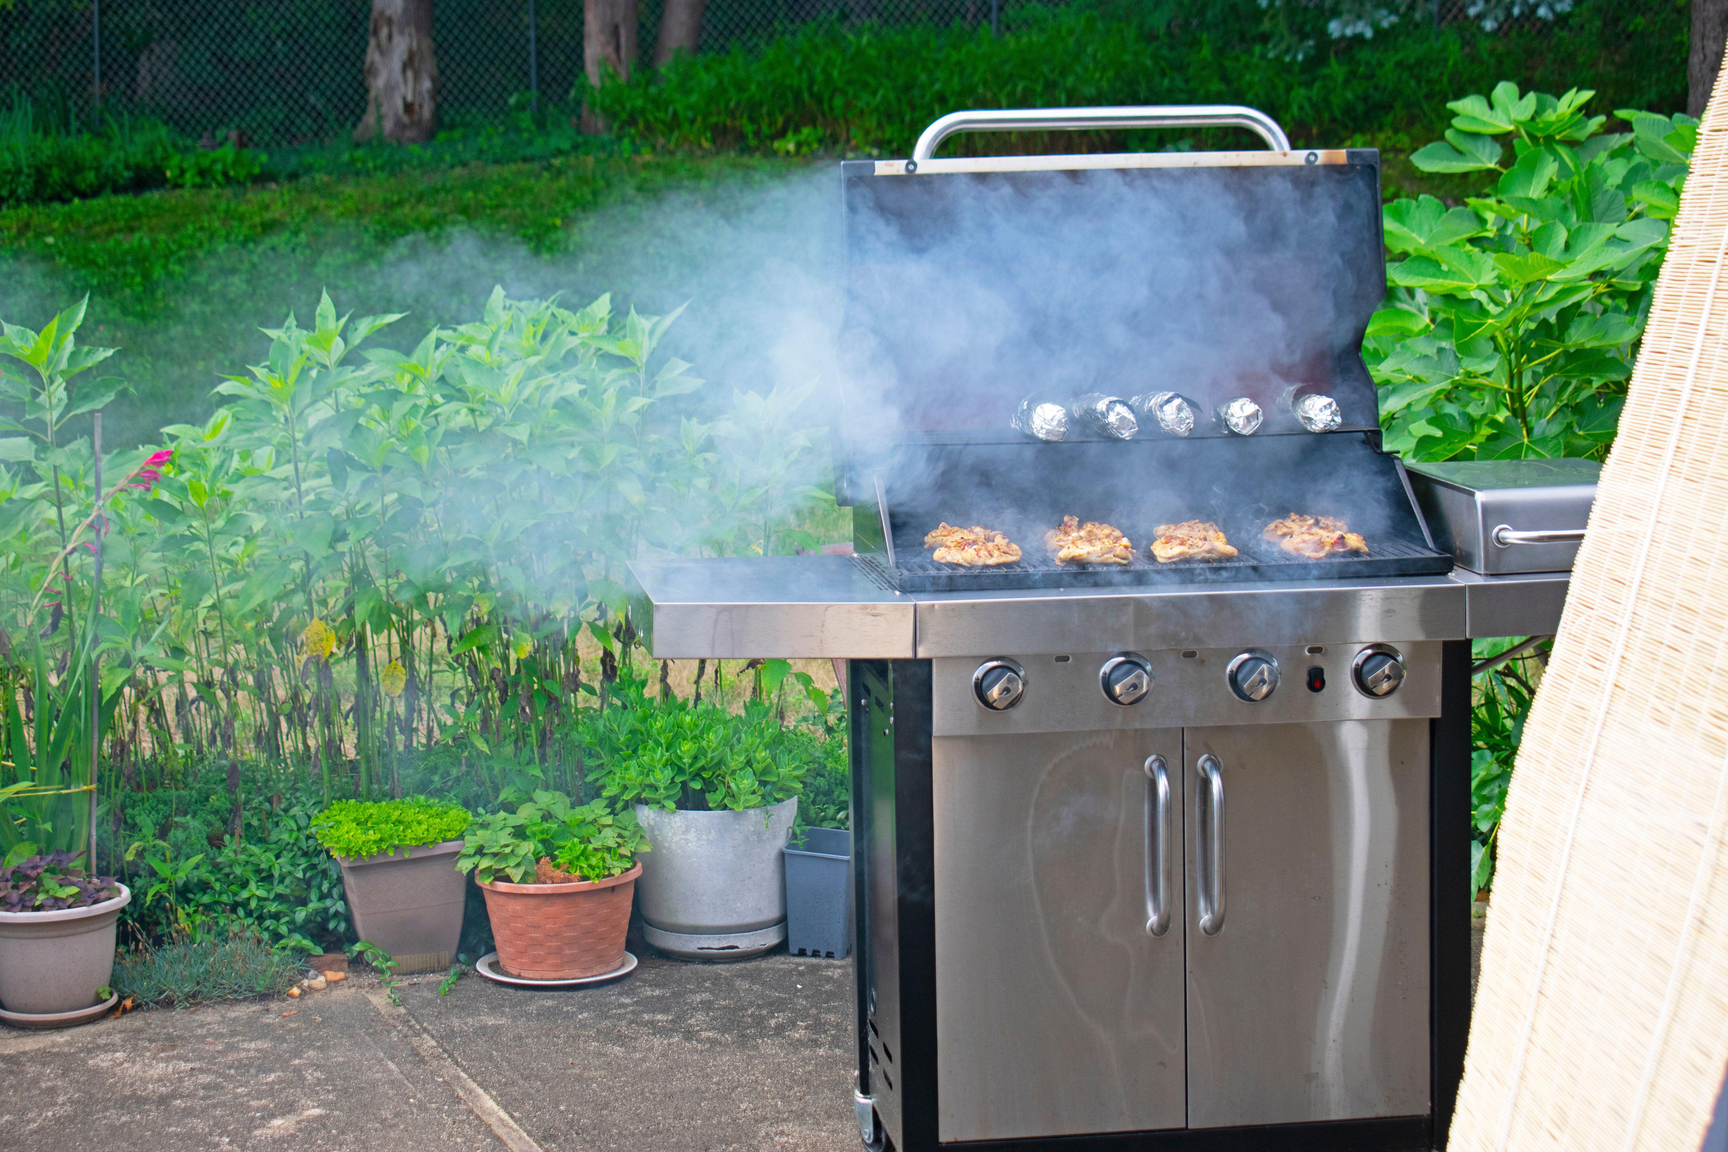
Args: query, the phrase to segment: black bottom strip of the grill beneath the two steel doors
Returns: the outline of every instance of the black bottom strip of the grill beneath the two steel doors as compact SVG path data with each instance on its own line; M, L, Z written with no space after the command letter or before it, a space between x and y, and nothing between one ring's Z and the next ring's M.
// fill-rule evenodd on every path
M945 1143L954 1152L1429 1152L1426 1116Z

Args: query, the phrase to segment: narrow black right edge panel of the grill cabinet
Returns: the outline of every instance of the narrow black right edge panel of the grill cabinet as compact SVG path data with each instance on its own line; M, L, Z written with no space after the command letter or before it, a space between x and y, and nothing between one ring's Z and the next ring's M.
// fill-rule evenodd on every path
M1446 641L1439 658L1439 718L1433 720L1434 1147L1446 1147L1471 1036L1471 641Z

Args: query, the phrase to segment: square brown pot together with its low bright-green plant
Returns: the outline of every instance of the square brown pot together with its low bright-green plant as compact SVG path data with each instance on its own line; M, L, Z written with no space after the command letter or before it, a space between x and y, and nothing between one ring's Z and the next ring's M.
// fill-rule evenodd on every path
M468 812L425 796L339 800L313 834L342 865L354 933L396 960L397 972L449 967L461 940L467 879L456 853Z

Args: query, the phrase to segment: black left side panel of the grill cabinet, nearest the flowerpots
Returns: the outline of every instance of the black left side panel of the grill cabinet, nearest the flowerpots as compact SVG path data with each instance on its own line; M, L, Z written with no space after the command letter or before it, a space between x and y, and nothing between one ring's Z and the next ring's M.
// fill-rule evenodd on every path
M890 1147L937 1143L930 661L854 660L859 1085Z

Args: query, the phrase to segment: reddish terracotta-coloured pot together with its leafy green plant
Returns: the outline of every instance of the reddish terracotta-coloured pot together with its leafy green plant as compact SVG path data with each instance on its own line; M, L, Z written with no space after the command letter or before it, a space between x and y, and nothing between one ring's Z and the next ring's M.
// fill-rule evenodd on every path
M480 815L456 857L486 895L498 962L518 979L582 979L624 965L648 839L629 812L536 791Z

